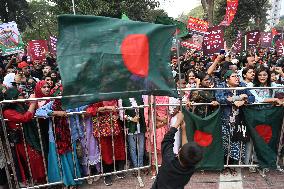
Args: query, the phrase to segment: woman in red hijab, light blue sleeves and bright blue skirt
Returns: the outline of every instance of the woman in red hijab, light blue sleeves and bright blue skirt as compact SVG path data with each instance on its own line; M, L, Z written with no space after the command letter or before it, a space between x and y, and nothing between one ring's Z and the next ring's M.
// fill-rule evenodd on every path
M45 97L49 94L46 81L39 82L36 86L36 96ZM49 118L48 181L63 180L64 184L70 187L78 185L79 182L75 182L74 179L81 177L81 173L76 143L72 145L71 142L67 113L62 109L60 100L45 101L45 104L43 102L41 104L43 105L36 110L36 116Z

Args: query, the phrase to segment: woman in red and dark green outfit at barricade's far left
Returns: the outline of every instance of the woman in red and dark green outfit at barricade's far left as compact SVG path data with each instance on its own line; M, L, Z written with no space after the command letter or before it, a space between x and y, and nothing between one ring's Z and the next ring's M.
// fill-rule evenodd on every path
M5 92L6 100L16 100L18 98L23 98L23 96L16 88L9 88ZM3 112L4 118L9 120L7 130L10 143L15 146L15 155L21 177L19 180L24 184L27 183L29 177L35 183L45 182L42 149L36 123L33 120L35 107L36 103L34 102L31 102L29 106L22 103L10 103L4 107ZM28 175L27 170L29 168L31 175Z

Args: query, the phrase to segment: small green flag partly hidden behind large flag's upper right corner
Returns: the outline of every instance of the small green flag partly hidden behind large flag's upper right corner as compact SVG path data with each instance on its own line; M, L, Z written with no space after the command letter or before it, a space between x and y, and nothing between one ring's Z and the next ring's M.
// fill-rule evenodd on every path
M176 33L177 37L186 37L188 35L188 29L183 22L174 20L171 17L160 17L158 16L155 21L156 24L164 25L175 25L177 27Z

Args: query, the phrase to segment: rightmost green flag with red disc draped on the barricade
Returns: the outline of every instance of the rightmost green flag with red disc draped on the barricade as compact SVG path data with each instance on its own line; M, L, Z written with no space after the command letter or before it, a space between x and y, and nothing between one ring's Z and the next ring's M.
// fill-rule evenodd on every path
M247 107L243 111L260 167L275 168L284 116L283 107Z

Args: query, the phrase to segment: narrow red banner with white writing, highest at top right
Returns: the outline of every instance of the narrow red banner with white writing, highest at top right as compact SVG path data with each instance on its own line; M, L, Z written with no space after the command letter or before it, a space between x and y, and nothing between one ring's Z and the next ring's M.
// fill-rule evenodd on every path
M227 0L226 15L224 20L220 23L222 26L229 26L234 20L235 14L238 10L239 0Z

